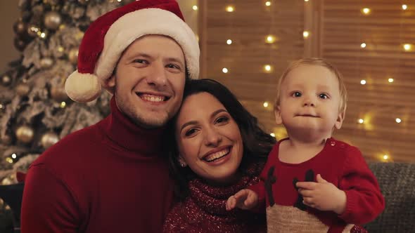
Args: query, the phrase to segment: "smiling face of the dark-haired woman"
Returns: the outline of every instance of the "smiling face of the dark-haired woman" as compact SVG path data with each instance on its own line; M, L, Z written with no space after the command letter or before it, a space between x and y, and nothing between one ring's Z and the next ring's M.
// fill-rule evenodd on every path
M236 178L243 155L241 132L213 95L202 92L184 100L175 135L181 164L208 182L226 184Z

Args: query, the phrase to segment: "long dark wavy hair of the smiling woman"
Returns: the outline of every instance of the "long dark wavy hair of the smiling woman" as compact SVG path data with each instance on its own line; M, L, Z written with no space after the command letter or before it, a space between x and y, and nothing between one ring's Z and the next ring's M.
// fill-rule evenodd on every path
M269 133L262 131L257 118L241 105L235 95L226 86L212 79L186 80L183 102L190 95L197 93L210 93L215 96L224 105L234 121L236 121L236 124L238 124L243 141L243 157L241 166L239 166L241 172L244 171L244 168L248 164L265 161L267 159L268 153L276 142L275 138L269 135ZM189 180L194 178L196 174L191 171L189 166L181 168L179 165L177 140L171 140L171 138L174 138L176 121L177 116L168 124L168 137L170 138L168 140L170 142L168 146L170 149L170 173L175 181L175 194L179 199L184 199L189 195Z

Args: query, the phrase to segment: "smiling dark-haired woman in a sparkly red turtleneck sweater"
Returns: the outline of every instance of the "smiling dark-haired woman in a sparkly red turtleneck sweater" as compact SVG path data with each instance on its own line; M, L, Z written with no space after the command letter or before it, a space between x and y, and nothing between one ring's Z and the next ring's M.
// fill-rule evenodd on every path
M266 232L264 211L226 211L226 199L259 181L275 139L222 84L186 83L170 145L172 177L179 202L164 232Z

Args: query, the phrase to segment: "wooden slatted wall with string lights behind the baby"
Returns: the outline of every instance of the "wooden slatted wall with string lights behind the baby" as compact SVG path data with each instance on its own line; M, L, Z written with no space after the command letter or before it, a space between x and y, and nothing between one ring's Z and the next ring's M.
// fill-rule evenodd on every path
M279 76L292 60L321 56L340 69L349 93L346 119L335 137L359 147L368 160L388 154L388 161L415 161L415 4L407 3L403 11L397 0L264 3L199 1L202 77L228 86L267 131L281 138L285 132L272 112ZM234 12L225 11L229 5ZM362 13L365 7L369 15ZM265 43L267 34L276 36L274 44ZM227 45L227 39L233 43ZM404 51L406 43L412 51ZM272 72L264 72L266 64ZM262 106L265 101L269 107Z

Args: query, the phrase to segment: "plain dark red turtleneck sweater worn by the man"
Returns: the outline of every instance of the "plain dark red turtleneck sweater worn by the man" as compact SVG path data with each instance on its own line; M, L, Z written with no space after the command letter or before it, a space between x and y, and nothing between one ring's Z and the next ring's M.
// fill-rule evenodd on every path
M23 233L162 232L172 180L162 129L144 130L120 112L72 133L30 166Z

